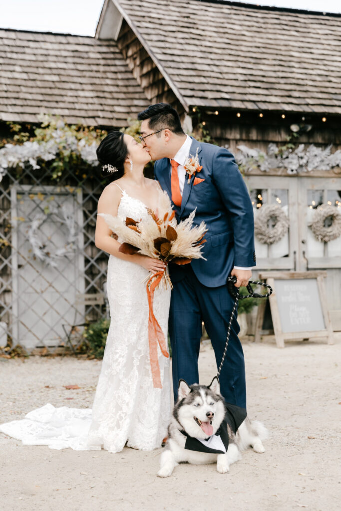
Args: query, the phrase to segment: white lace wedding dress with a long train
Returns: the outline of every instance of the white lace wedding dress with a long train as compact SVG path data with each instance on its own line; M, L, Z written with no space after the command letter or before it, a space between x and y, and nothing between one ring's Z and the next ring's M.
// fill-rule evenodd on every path
M147 208L125 191L118 216L143 218ZM150 451L161 446L170 419L169 358L158 350L162 388L154 388L149 360L148 271L110 255L107 293L110 329L92 410L47 404L23 420L0 425L0 431L24 445L54 449L101 449L110 452L128 447ZM165 335L170 289L156 289L153 310Z

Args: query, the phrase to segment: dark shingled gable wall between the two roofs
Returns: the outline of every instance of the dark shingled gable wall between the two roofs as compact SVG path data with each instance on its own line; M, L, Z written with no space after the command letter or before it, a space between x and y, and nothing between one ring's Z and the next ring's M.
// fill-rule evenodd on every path
M125 20L123 20L117 44L150 103L170 103L182 114L183 107Z

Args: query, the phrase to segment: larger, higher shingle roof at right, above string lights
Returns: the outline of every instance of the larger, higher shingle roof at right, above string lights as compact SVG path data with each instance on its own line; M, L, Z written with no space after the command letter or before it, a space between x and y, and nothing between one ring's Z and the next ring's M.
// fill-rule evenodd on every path
M186 107L341 113L341 16L112 0Z

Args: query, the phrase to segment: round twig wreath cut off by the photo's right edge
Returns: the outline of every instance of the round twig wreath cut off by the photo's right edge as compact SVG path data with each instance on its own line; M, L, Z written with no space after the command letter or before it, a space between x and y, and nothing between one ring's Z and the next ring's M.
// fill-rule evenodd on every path
M308 225L317 241L328 243L341 236L341 213L335 206L322 204L314 211L312 221Z

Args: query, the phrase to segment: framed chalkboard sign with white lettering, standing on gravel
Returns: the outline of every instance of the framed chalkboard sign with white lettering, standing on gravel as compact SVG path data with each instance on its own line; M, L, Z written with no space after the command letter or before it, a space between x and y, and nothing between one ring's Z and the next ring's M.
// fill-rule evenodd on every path
M276 343L326 337L333 343L324 288L325 271L264 272L260 278L274 289L269 297Z

